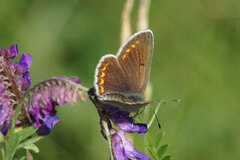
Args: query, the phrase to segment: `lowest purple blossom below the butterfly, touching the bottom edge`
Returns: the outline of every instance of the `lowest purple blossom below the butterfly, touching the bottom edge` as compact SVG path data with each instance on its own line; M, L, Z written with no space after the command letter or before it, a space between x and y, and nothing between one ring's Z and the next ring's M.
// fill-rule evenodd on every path
M115 160L150 160L150 158L141 152L138 152L133 144L126 138L126 133L122 130L115 131L112 135L112 147Z

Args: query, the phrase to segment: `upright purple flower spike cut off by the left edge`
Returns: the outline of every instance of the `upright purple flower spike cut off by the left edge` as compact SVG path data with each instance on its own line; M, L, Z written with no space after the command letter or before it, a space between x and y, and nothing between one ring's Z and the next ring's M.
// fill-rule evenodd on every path
M9 60L18 56L18 46L0 49L0 126L1 132L7 134L14 108L22 97L23 90L31 85L28 72L32 57L23 54L19 62ZM20 77L19 77L20 76Z

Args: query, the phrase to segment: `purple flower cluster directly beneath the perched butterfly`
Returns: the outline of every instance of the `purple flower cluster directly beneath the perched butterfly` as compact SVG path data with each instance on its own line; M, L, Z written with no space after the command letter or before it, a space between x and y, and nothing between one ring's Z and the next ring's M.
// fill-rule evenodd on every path
M91 91L90 91L91 92ZM89 93L91 95L91 93ZM112 152L115 160L150 160L150 158L141 152L138 152L133 144L126 138L127 133L139 133L145 134L148 129L147 125L143 123L134 123L133 117L130 117L130 113L122 111L117 107L111 105L101 104L103 106L102 114L107 116L105 121L108 123L108 129L112 135ZM112 128L110 120L120 129L116 131ZM103 125L101 125L101 133L105 139L107 135Z

